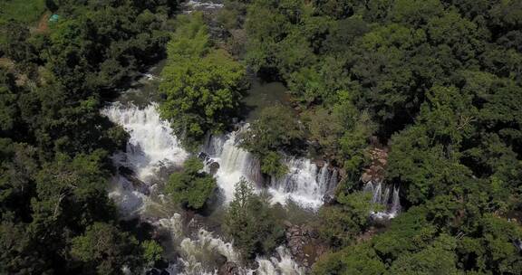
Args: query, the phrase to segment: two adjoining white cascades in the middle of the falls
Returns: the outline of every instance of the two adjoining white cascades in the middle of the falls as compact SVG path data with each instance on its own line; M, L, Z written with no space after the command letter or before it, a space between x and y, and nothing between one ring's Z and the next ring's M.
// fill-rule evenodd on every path
M263 186L263 176L259 161L245 149L239 147L237 136L247 125L227 136L209 137L203 151L209 156L207 164L219 164L216 174L218 185L229 202L234 195L234 186L241 177ZM267 191L273 204L287 204L292 201L307 209L317 210L324 204L325 196L332 196L337 185L337 171L328 164L319 168L310 159L288 157L285 160L288 174L275 178L270 177ZM210 170L207 168L207 170Z

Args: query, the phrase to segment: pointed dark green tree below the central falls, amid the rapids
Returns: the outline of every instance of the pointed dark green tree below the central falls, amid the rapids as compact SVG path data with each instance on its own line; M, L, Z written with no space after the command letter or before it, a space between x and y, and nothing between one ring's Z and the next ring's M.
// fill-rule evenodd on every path
M267 203L254 194L254 188L245 179L236 185L224 226L246 260L254 259L257 253L268 255L282 241L285 233Z

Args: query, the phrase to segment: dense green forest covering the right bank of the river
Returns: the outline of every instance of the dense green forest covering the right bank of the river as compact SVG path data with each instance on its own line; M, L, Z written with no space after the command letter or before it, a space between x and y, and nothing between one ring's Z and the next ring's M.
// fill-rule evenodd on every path
M314 274L522 272L509 219L522 210L522 2L233 1L221 17L248 65L287 84L301 138L347 174L321 211L334 252ZM360 243L371 136L390 147L386 180L407 209Z

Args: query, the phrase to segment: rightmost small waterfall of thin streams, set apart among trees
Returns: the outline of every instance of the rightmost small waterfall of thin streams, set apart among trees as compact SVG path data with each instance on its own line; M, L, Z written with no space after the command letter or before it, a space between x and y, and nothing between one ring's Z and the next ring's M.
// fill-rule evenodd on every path
M391 194L391 189L393 189ZM364 192L372 194L373 204L382 204L386 207L385 211L372 212L372 218L376 220L389 220L401 212L401 198L399 197L399 187L383 185L382 182L373 183L372 181L364 185ZM390 198L391 194L391 198Z

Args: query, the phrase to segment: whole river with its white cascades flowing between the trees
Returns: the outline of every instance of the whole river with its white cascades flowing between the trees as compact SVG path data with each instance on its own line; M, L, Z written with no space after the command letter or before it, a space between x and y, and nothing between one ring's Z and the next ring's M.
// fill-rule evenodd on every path
M185 13L221 6L213 2L190 1ZM102 109L104 116L130 134L126 150L112 156L120 173L112 178L109 195L118 205L122 218L153 226L164 247L164 258L169 261L169 267L164 270L169 274L217 274L219 267L227 261L236 263L242 274L304 274L305 269L292 259L285 246L278 247L274 255L258 256L256 268L241 266L232 243L209 227L218 230L219 214L233 198L234 186L241 177L255 185L257 192L268 194L272 204L299 208L295 215L299 212L306 213L305 216L314 215L324 204L324 199L333 195L338 181L336 169L328 164L317 166L304 157L287 156L287 175L281 178L261 175L256 157L237 144L237 135L248 127L247 123L242 124L237 131L208 136L201 147L200 151L207 156L206 169L210 170L212 163L219 166L214 176L221 200L207 218L191 218L195 217L193 213L179 209L161 193L168 176L178 171L189 156L169 123L160 119L157 109L160 99L156 91L163 64L160 62L142 74L132 83L130 90L122 92L117 100ZM252 88L244 100L250 111L247 122L256 119L266 106L287 102L283 84L253 78ZM211 223L215 228L209 226Z

